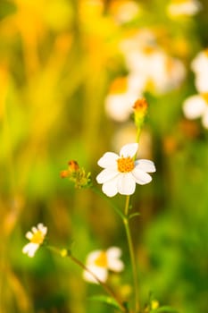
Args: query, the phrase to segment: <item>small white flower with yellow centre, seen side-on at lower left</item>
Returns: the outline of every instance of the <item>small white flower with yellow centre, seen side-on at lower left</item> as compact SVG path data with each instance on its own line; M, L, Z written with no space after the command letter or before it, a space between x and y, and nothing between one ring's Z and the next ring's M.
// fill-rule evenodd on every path
M26 238L29 240L22 252L27 254L29 258L33 258L39 246L45 240L47 227L44 224L37 224L37 227L32 227L31 232L26 233Z

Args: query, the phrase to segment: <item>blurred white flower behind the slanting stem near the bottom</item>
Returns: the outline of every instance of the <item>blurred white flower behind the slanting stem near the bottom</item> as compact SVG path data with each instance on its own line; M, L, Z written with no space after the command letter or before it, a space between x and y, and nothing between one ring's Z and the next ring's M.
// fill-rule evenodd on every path
M109 270L113 272L123 270L124 265L120 257L121 249L117 247L109 248L106 251L96 250L87 256L86 266L100 281L106 282ZM98 283L88 271L84 271L83 277L89 283Z

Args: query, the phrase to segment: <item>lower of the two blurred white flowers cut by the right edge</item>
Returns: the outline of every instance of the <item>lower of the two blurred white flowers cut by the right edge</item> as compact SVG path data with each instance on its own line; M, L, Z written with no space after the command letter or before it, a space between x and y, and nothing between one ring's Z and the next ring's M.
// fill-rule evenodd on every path
M204 128L208 129L208 94L187 97L183 103L183 111L190 120L201 117Z

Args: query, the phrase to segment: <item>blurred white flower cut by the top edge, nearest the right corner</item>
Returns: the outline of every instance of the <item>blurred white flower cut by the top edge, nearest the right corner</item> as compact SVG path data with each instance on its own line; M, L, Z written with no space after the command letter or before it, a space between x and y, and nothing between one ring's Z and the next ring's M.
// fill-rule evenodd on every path
M195 15L202 8L202 5L197 0L173 0L167 7L167 12L170 16L180 15Z

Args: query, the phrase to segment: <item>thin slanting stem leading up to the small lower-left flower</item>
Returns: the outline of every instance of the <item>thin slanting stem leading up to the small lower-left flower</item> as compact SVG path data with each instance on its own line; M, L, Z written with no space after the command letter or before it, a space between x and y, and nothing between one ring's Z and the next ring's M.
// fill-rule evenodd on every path
M59 254L62 257L68 257L71 258L71 260L77 264L79 267L81 267L83 270L87 271L87 273L89 273L90 275L92 275L96 282L99 283L103 288L104 291L107 292L118 304L118 306L121 309L121 312L124 313L129 313L129 310L123 305L123 303L121 302L121 300L119 300L117 298L117 296L114 294L114 292L112 292L112 290L108 287L108 285L104 282L102 282L89 268L87 268L87 266L85 266L81 261L79 261L78 258L75 258L71 255L71 252L67 251L67 250L59 250L58 248L55 248L54 246L46 246L46 248L48 250L51 250L57 254Z

